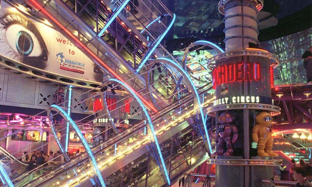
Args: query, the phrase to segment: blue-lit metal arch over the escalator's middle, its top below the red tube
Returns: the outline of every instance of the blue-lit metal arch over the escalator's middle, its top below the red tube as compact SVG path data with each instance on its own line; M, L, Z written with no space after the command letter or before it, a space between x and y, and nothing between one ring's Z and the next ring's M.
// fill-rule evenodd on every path
M160 159L160 164L159 164L159 167L160 167L160 170L165 178L165 180L167 181L167 184L170 185L170 178L169 178L169 175L168 175L168 172L167 172L167 169L166 169L166 165L165 165L165 162L163 160L163 155L161 153L161 149L159 147L159 143L158 143L158 140L157 140L157 136L155 134L155 130L154 130L154 126L153 126L153 123L152 123L152 120L151 118L149 117L149 113L147 112L146 108L144 107L142 101L139 99L139 97L134 93L134 91L132 91L129 86L127 86L127 84L125 84L124 82L122 81L119 81L117 79L109 79L108 81L114 81L114 82L117 82L119 84L121 84L122 86L124 86L125 89L127 89L130 94L135 98L136 101L139 102L139 105L141 106L142 108L142 111L144 112L144 115L145 115L145 118L146 120L148 121L149 125L148 125L148 130L150 131L150 133L152 135L150 135L150 138L151 138L151 143L152 143L152 146L155 146L154 148L157 149L157 151L155 152L155 159L156 161L158 161L157 159ZM157 156L157 157L156 157Z

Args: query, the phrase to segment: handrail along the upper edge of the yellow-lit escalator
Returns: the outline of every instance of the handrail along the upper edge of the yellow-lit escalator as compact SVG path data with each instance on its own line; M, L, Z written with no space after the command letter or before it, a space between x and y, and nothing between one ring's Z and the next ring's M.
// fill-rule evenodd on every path
M209 83L207 83L206 85L200 87L199 89L202 89L202 88L206 87L207 85L209 85L209 84L211 84L211 83L212 83L212 82L209 82ZM199 90L199 89L198 89L198 90ZM204 90L204 91L201 91L199 94L202 94L203 92L209 91L209 90L211 90L211 89L212 89L212 86L209 87L209 88L207 88L207 89ZM190 97L190 96L191 96L191 98L188 98L188 97ZM187 99L187 100L186 100L186 99ZM164 115L167 115L170 111L174 110L174 109L175 109L175 108L173 108L173 105L174 105L174 104L183 105L183 104L185 104L186 102L191 101L192 99L193 99L193 94L192 94L192 93L189 93L188 95L186 95L186 96L183 97L182 99L177 100L177 101L173 102L173 104L164 107L163 109L159 110L158 112L162 112L162 111L167 111L167 112L165 112L164 114L162 114L162 115L160 115L160 116L157 116L156 118L153 119L153 121L154 121L154 120L157 120L157 119L159 119L159 118L161 118L161 117L163 117ZM186 100L186 101L181 101L181 100ZM181 102L183 102L183 103L181 103ZM174 106L174 107L177 107L177 106ZM173 108L173 109L168 109L168 108ZM151 116L155 116L156 114L157 114L157 113L153 113ZM143 125L140 124L140 123L143 123ZM135 133L137 130L142 129L144 126L146 126L146 124L144 124L144 120L141 120L141 121L139 121L137 124L135 124L135 125L129 127L129 128L135 128L135 129L132 130L132 132L129 132L128 135L126 135L126 136L121 136L121 135L119 134L119 138L118 138L117 140L115 140L113 143L110 143L110 144L106 145L105 147L103 147L103 145L105 145L106 143L108 143L108 142L110 141L111 138L113 138L113 137L116 136L116 135L115 135L115 136L111 137L110 139L106 140L105 142L102 142L101 144L99 144L99 145L93 147L91 150L96 150L97 148L102 147L99 151L96 151L96 152L93 153L93 154L96 154L96 153L98 153L98 152L100 152L100 151L102 151L102 150L104 150L104 149L106 149L106 148L108 148L108 147L110 147L110 146L112 146L112 145L117 144L119 141L122 141L122 140L124 140L125 138L128 138L128 136L132 135L132 134ZM127 131L129 131L129 130L128 130L128 129L124 130L124 132L127 132ZM116 142L117 142L117 143L116 143ZM82 154L78 155L77 157L75 157L74 160L70 160L69 162L66 162L64 165L70 164L70 163L72 163L73 161L78 160L77 163L75 163L75 164L72 163L68 168L66 168L66 170L70 170L70 168L76 167L76 165L78 165L79 163L83 162L83 161L86 160L86 159L89 159L89 157L86 157L85 154L86 154L86 153L82 153ZM84 159L80 159L81 157L84 157ZM59 174L61 174L61 173L63 172L63 170L64 170L65 167L66 167L66 166L64 166L64 165L61 165L61 166L59 166L58 168L55 168L55 169L54 169L54 170L60 170L60 169L62 170L61 172L58 172L58 173L54 172L54 176L57 176L57 175L59 175ZM44 176L41 176L41 177L44 177ZM31 181L31 183L36 182L36 180L39 180L39 178L41 178L41 177L38 177L37 179ZM54 177L52 177L52 178L54 178ZM51 178L50 178L50 179L51 179ZM48 179L48 180L50 180L50 179ZM29 184L26 184L26 185L29 185Z

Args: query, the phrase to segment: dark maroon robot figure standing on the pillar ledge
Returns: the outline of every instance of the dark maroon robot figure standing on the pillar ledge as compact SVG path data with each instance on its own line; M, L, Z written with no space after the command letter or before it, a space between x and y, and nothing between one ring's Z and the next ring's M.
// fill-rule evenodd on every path
M234 116L230 112L223 112L219 118L218 132L216 133L216 144L218 151L213 155L233 155L233 144L238 139L238 128L235 125ZM225 145L227 151L225 151Z

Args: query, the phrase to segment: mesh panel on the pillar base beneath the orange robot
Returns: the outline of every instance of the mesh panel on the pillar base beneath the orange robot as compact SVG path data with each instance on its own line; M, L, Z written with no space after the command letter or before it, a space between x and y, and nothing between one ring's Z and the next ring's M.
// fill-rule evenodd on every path
M270 184L262 183L262 179L273 178L272 166L251 166L251 186L252 187L266 187Z

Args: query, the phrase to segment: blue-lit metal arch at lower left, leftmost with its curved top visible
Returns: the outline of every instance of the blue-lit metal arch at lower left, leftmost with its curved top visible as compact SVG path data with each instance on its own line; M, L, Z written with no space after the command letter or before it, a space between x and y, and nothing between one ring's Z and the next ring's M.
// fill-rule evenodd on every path
M76 123L71 119L70 116L68 116L68 114L60 107L60 106L57 106L57 105L51 105L51 110L55 110L55 111L58 111L60 112L61 116L64 117L64 119L73 127L73 129L75 130L76 134L78 135L82 145L84 146L86 152L88 153L90 159L91 159L91 162L93 164L93 169L95 170L95 173L98 177L98 179L100 180L100 184L102 187L106 187L105 183L104 183L104 180L103 180L103 177L101 175L101 172L99 170L99 167L96 163L96 160L95 160L95 157L90 149L90 146L88 145L88 142L87 140L85 140L85 137L82 135L80 129L78 128L78 126L76 125ZM51 113L50 113L51 114ZM51 124L51 125L54 125L54 124ZM52 131L53 132L53 131Z

